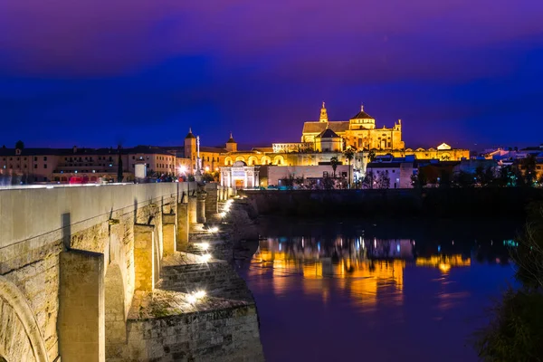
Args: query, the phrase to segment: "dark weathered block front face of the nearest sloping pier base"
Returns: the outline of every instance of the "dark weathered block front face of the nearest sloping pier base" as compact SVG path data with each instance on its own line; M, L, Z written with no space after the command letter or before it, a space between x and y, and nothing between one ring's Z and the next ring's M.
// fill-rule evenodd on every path
M254 305L130 320L128 329L132 360L263 361Z

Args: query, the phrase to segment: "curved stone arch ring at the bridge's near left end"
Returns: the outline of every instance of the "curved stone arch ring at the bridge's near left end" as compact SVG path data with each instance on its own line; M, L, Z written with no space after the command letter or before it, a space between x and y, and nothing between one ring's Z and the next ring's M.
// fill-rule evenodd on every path
M28 301L13 282L0 276L0 319L9 320L10 329L0 329L0 361L48 362L42 332ZM1 335L10 331L11 336Z

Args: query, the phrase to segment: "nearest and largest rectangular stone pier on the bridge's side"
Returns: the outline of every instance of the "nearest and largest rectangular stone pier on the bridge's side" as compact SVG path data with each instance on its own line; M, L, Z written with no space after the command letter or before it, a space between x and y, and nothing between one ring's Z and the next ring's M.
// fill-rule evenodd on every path
M104 328L104 255L60 254L59 349L64 361L106 360Z

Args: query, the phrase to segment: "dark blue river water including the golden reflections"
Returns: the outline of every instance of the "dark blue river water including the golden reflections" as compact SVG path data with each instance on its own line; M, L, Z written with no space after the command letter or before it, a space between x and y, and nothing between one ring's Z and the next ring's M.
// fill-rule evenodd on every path
M514 284L505 221L261 221L238 262L266 360L476 361L473 332Z

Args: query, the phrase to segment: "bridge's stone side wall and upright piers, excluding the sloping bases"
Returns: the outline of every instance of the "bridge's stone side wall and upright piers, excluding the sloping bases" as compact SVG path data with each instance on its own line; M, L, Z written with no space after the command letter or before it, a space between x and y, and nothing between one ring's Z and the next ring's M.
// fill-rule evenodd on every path
M205 191L195 183L3 189L0 360L151 359L129 357L128 334L145 338L129 329L132 301L152 297L163 258L187 250L191 228L233 195L215 184ZM168 358L154 360L176 359Z

